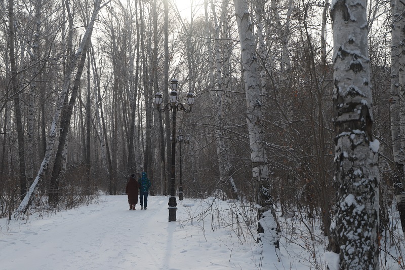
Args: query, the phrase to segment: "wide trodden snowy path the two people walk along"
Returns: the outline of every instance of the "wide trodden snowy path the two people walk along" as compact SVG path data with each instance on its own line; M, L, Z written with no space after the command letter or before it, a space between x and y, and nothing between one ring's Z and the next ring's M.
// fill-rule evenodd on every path
M149 196L148 210L128 210L126 196L28 222L0 219L0 269L257 269L252 246L229 242L229 230L184 226L194 201L178 201L168 222L168 197ZM180 222L179 222L180 221ZM232 236L231 236L232 237Z

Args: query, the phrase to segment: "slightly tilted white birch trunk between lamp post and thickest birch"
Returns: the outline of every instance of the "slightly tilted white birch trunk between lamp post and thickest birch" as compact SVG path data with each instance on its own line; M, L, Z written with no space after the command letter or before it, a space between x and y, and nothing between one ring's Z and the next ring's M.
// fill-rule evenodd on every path
M263 140L263 116L261 102L260 74L258 73L255 37L253 35L253 25L250 21L248 3L245 0L234 0L236 22L238 26L240 50L242 58L242 71L246 91L246 121L249 131L249 142L252 161L252 178L255 184L255 201L260 206L258 211L259 226L258 232L262 233L265 224L261 224L263 213L273 210L273 202L269 189L269 170ZM270 213L269 213L270 214ZM274 220L275 213L271 213L271 225L266 224L266 234L273 234L274 244L277 246L275 233L277 232ZM266 214L267 215L267 214ZM270 226L270 227L269 227Z

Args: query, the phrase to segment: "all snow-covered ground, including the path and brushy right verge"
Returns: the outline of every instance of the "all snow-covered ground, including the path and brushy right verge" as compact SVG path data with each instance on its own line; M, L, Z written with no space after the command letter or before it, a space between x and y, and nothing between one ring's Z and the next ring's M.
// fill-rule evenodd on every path
M291 236L285 227L276 250L263 236L256 243L254 211L214 198L177 203L176 222L168 222L164 196L149 196L148 210L128 210L127 196L101 196L72 210L0 219L0 269L325 269L324 239L310 241L305 226Z

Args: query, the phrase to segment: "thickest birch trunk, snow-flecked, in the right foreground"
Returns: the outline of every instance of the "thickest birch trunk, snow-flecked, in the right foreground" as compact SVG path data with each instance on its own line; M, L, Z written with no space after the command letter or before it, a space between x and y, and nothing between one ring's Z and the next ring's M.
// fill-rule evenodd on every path
M378 269L378 140L373 139L364 0L332 3L336 213L332 252L340 269Z

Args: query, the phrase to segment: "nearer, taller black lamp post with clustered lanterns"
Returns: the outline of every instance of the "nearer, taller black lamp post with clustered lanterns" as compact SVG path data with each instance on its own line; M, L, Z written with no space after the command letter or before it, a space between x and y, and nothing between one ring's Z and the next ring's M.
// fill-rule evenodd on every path
M167 103L163 108L160 108L161 103L163 102L163 95L161 93L155 94L155 104L159 112L164 112L165 110L173 111L173 125L172 125L172 138L176 138L176 112L178 110L183 110L185 112L191 111L191 106L194 104L195 98L193 93L188 93L186 95L186 101L190 106L189 109L186 109L183 104L179 103L179 96L177 94L177 89L179 88L179 83L176 79L172 79L170 82L170 92L169 103ZM175 175L176 175L176 140L172 140L172 179L170 187L170 198L169 198L169 222L176 221L176 193L175 193Z

